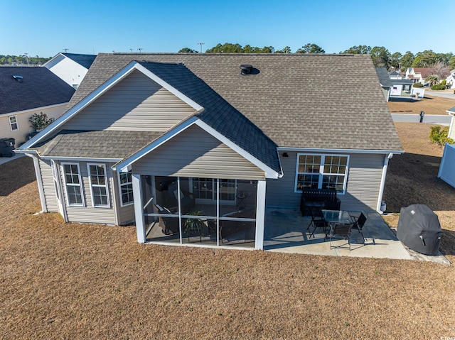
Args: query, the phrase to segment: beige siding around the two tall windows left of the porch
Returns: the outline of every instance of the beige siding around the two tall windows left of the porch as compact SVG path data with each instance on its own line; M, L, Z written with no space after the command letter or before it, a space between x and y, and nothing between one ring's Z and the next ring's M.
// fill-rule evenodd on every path
M66 163L66 162L63 162ZM68 162L76 163L76 162ZM93 163L93 162L91 162ZM106 165L107 180L109 192L110 208L92 207L92 194L90 192L90 180L87 173L87 163L79 162L80 176L82 178L82 200L85 202L85 207L75 207L68 205L68 197L66 197L66 186L63 180L63 167L60 165L60 176L62 177L63 198L65 199L66 213L68 221L82 223L98 223L98 224L115 224L115 212L112 204L112 164L102 163Z

